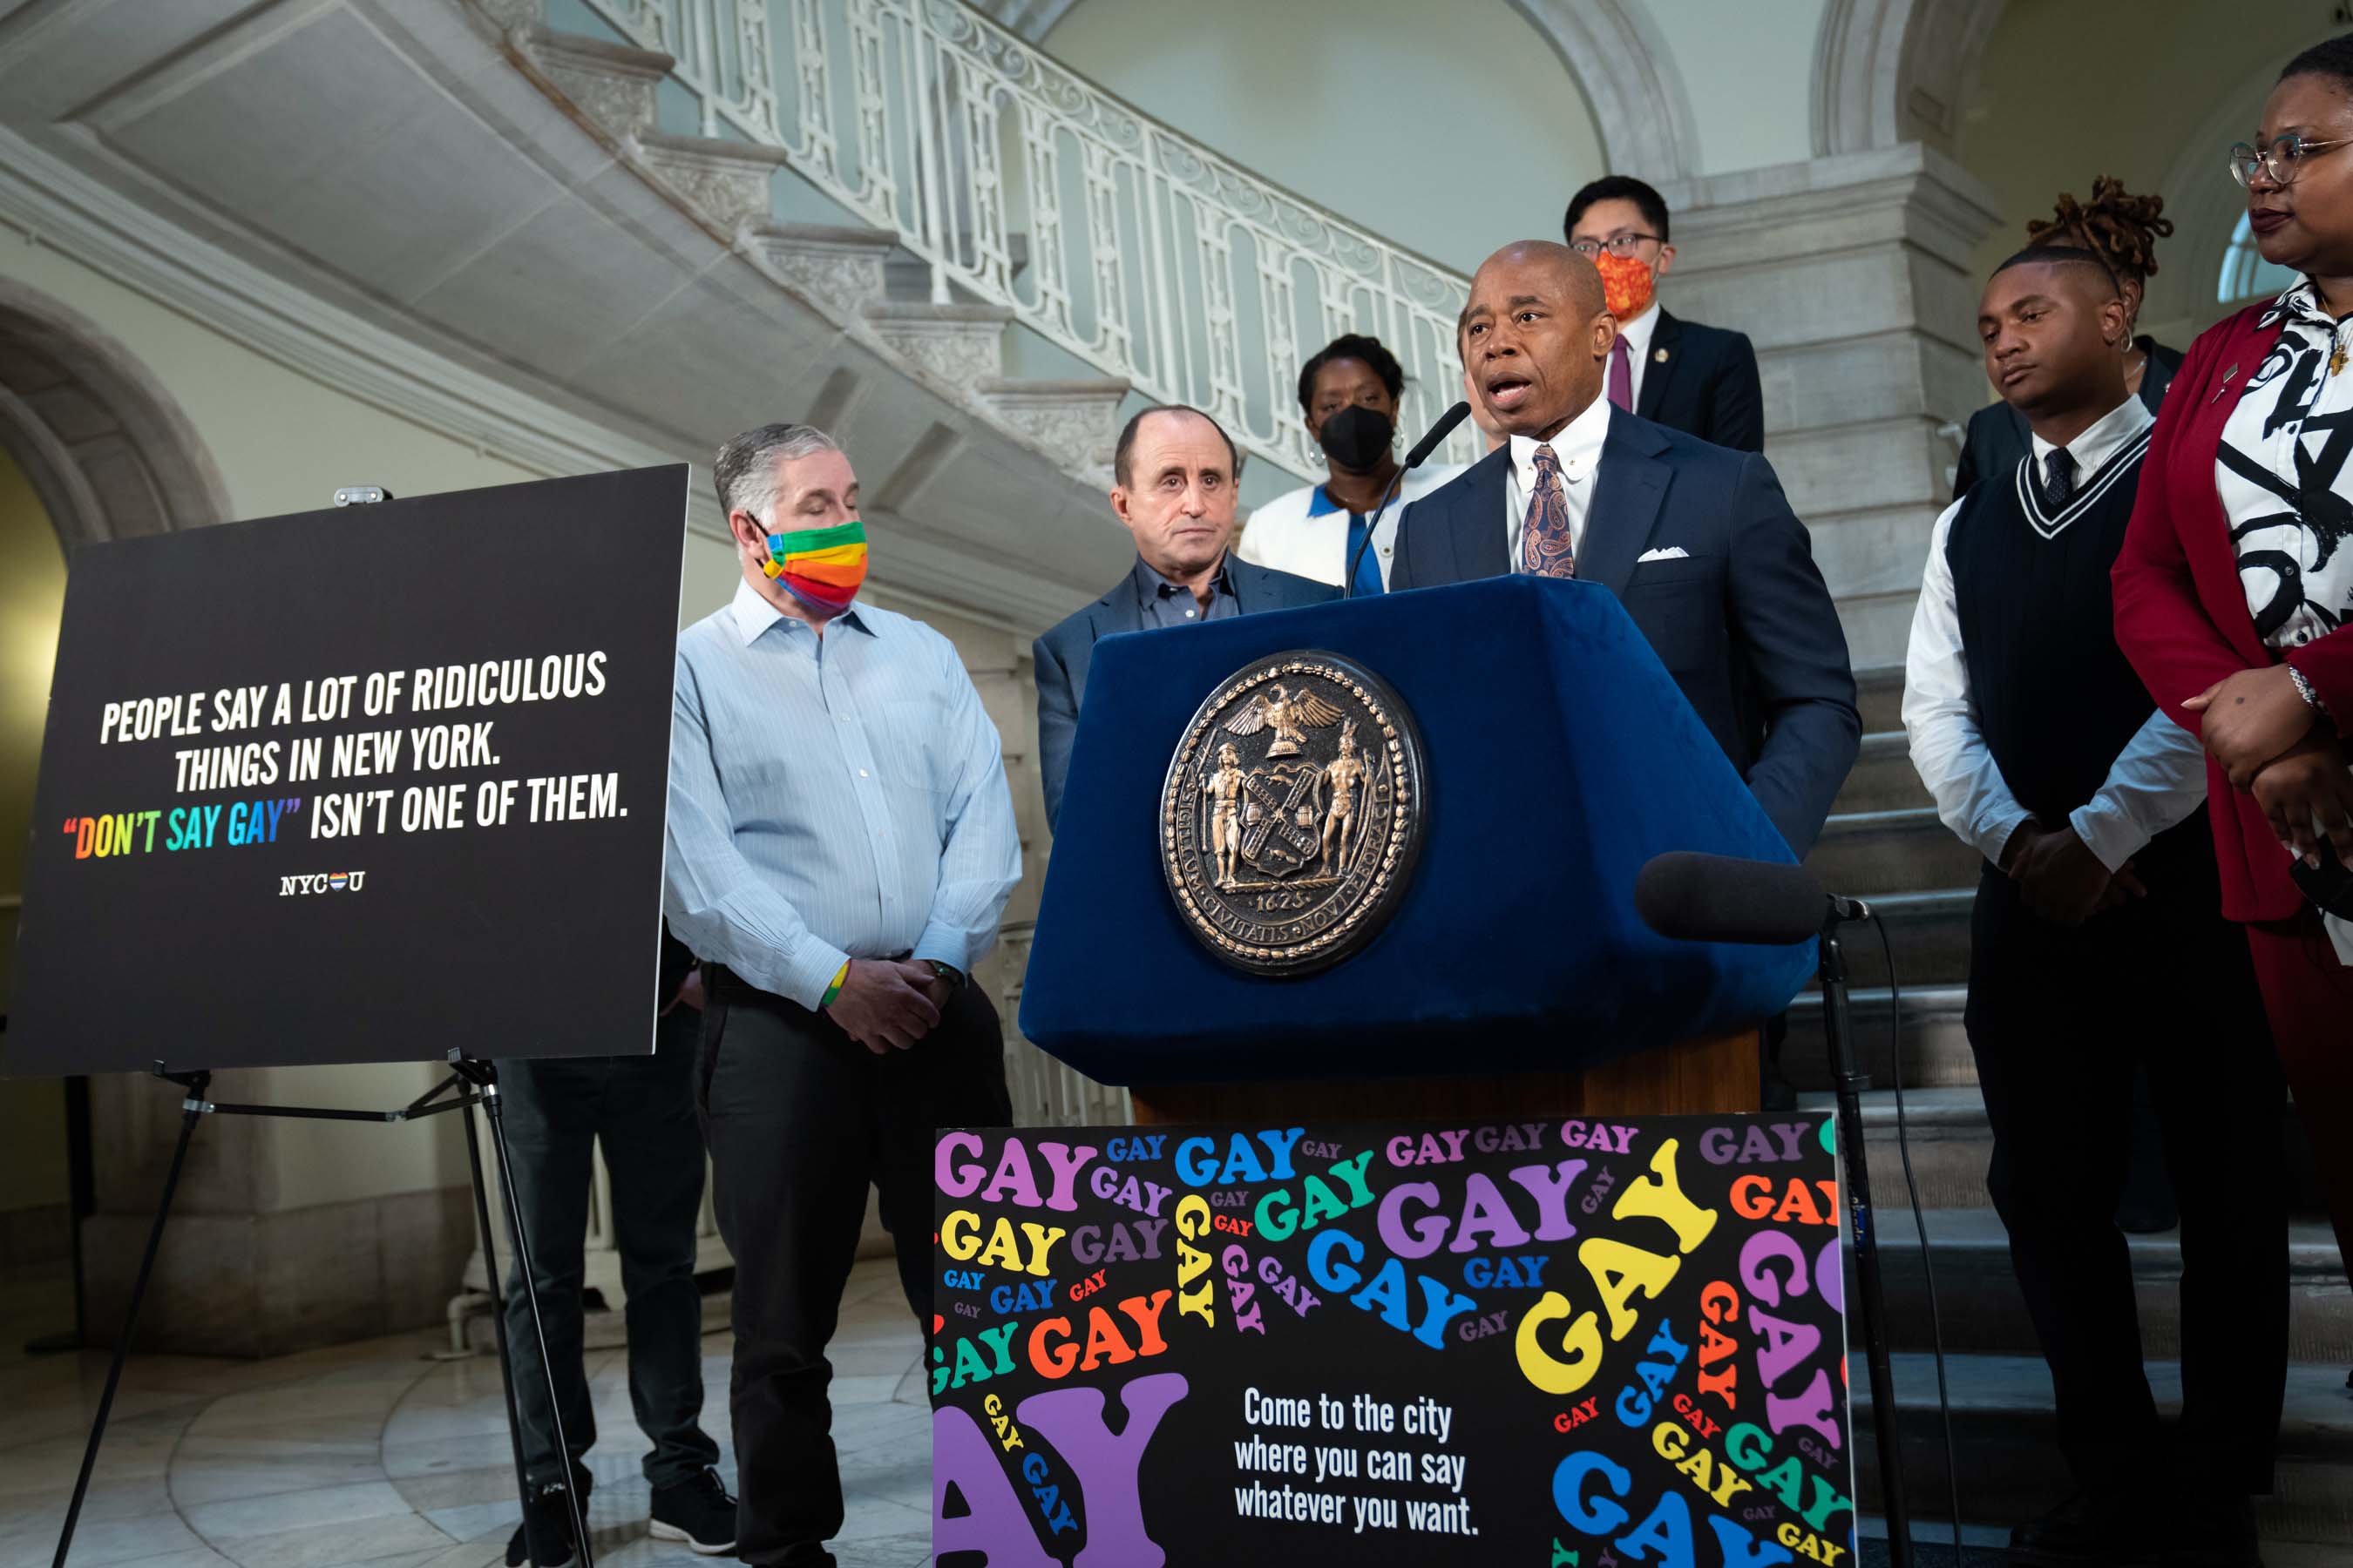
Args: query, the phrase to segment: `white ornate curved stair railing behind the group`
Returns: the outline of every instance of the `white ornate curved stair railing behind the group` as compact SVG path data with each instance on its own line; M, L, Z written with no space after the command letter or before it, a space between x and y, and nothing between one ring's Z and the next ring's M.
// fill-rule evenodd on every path
M579 0L668 54L704 136L788 167L953 289L1252 454L1322 473L1299 364L1341 331L1407 369L1400 425L1459 397L1459 273L1273 186L962 0ZM1468 425L1447 458L1478 456Z

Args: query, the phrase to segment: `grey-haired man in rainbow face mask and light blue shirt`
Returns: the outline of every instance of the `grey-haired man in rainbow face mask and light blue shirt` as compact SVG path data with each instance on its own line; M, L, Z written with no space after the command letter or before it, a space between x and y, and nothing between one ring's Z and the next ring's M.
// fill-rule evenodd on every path
M831 1563L826 1342L882 1194L932 1328L932 1128L1012 1121L967 985L1021 879L998 731L946 637L856 604L859 480L762 425L713 463L744 581L678 639L664 910L704 959L699 1107L736 1260L736 1556Z

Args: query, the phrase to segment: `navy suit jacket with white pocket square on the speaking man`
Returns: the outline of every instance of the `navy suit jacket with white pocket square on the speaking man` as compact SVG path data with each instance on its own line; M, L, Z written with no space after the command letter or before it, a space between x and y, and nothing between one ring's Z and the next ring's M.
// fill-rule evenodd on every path
M1405 508L1391 592L1511 571L1511 447ZM1609 416L1577 576L1619 597L1659 663L1805 856L1864 724L1831 590L1765 458ZM1640 562L1680 548L1680 559Z

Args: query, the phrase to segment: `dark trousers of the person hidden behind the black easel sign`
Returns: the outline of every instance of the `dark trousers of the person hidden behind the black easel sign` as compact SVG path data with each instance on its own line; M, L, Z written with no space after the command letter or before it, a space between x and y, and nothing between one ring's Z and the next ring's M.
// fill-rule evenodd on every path
M593 1145L612 1175L612 1237L628 1295L628 1399L654 1443L645 1479L675 1486L718 1465L720 1446L701 1429L704 1302L694 1286L694 1220L704 1204L704 1138L694 1124L699 1016L673 1009L652 1056L513 1060L499 1065L515 1199L532 1241L539 1316L555 1366L555 1399L572 1446L572 1483L586 1495L581 1455L595 1443L595 1413L581 1368L581 1246L588 1239ZM548 1385L539 1375L520 1267L508 1272L506 1338L522 1413L522 1455L532 1486L565 1479L555 1458Z

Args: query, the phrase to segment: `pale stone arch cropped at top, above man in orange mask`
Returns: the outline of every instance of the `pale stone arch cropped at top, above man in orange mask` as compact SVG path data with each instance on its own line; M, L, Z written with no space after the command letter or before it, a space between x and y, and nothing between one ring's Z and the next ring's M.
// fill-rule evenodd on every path
M1000 26L1042 42L1080 0L979 0ZM1699 172L1692 99L1642 0L1504 0L1586 94L1614 172L1652 183ZM1313 193L1308 193L1313 195Z

